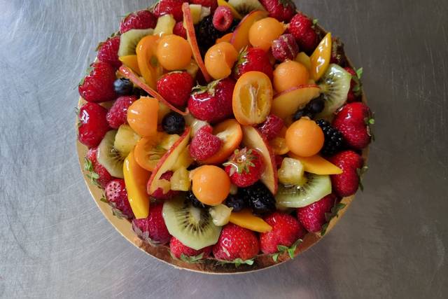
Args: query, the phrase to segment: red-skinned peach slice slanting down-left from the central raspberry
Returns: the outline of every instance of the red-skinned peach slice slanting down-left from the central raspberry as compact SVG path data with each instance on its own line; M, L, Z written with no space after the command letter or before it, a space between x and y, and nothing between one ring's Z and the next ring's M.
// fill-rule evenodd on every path
M160 176L165 174L169 170L173 170L176 161L183 152L183 150L188 146L188 141L190 140L190 127L187 127L182 136L173 144L171 148L165 153L165 155L160 158L160 161L155 166L151 178L148 180L147 192L148 194L153 194L157 190L158 181Z

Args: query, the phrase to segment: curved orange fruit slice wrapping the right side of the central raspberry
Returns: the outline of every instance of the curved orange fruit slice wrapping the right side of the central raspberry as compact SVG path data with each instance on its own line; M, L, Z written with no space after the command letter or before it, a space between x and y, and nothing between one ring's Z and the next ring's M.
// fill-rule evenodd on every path
M243 139L241 125L234 119L225 120L216 125L213 134L223 141L223 146L221 146L218 153L202 161L202 164L220 164L225 162L232 155L233 151L238 148L241 139Z

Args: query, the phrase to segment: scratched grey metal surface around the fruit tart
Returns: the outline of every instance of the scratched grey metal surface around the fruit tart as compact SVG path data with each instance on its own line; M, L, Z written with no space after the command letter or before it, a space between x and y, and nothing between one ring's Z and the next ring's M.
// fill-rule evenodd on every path
M75 89L137 0L0 0L0 297L446 298L448 2L300 1L364 67L366 190L325 239L243 276L175 270L104 219L75 151Z

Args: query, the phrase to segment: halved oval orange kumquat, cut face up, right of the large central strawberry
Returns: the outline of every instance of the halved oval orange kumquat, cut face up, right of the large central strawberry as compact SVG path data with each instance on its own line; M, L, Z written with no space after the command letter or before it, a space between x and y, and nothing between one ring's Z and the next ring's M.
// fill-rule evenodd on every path
M241 125L256 125L266 120L272 105L272 84L260 71L239 77L233 90L232 107Z

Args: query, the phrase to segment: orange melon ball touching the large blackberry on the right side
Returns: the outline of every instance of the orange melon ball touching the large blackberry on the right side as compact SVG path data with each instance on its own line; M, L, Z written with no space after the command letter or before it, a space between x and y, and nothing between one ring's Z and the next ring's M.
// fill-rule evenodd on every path
M324 135L314 120L300 118L286 130L286 146L295 155L311 157L323 146Z

